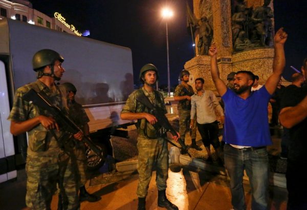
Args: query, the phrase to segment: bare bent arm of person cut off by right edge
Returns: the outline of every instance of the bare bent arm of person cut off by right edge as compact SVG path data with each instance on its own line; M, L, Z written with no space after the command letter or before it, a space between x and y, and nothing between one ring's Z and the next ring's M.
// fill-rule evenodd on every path
M286 128L292 128L303 121L307 117L307 96L297 106L283 108L278 117Z

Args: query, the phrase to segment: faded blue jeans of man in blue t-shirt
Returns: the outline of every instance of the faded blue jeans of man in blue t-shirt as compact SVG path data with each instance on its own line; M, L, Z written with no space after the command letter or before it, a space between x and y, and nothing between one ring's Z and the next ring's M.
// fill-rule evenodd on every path
M235 149L224 146L225 167L230 177L231 204L235 210L246 209L243 188L244 170L252 190L252 209L267 209L269 186L269 158L266 148Z

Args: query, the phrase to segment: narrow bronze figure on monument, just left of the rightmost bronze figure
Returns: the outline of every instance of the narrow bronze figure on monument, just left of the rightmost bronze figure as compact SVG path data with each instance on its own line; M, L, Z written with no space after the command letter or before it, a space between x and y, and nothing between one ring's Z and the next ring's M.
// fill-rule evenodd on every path
M245 31L247 16L245 15L245 5L238 4L236 12L232 15L232 43L234 45L240 31Z

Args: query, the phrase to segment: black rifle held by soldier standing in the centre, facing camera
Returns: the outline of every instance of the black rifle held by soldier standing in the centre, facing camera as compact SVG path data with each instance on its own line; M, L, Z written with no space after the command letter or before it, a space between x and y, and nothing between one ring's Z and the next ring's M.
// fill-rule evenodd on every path
M173 136L178 136L177 132L173 129L171 124L169 123L167 117L165 116L163 110L159 108L158 106L153 106L153 104L150 102L150 100L145 96L145 94L141 94L138 98L137 101L142 103L145 107L147 107L150 110L150 114L155 116L158 120L156 124L160 125L162 128L165 130L169 131ZM179 137L179 136L178 136ZM168 142L174 146L177 146L173 142L169 141ZM183 140L181 138L178 138L178 142L181 146L181 154L188 153L187 146L184 144ZM178 146L177 146L178 147ZM190 155L188 153L188 155Z

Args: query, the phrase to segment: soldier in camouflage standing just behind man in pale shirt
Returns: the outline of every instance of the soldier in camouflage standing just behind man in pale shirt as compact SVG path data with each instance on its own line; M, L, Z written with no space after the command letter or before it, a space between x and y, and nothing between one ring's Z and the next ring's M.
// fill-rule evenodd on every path
M190 73L187 70L181 71L181 84L176 87L174 92L174 100L179 101L179 134L183 141L185 141L185 134L190 127L191 96L194 95L193 88L188 84L189 76ZM196 144L196 123L190 128L190 136L192 139L191 147L199 151L202 150Z

